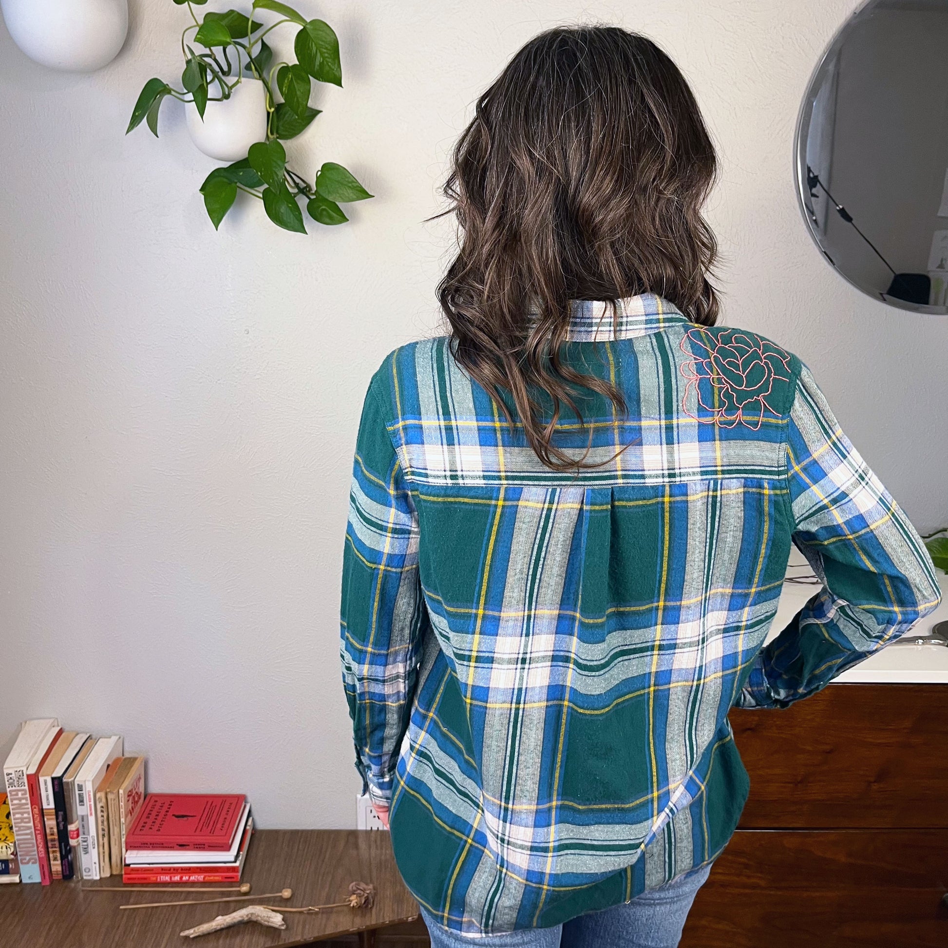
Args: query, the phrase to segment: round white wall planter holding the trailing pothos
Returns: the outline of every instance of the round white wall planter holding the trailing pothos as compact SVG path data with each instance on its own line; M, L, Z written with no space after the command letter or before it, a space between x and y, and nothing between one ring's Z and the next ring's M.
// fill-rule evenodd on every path
M219 98L220 94L220 88L212 84L210 95ZM185 110L191 140L218 161L246 158L250 146L266 137L266 92L259 79L245 77L234 86L229 99L209 100L203 121L193 103Z

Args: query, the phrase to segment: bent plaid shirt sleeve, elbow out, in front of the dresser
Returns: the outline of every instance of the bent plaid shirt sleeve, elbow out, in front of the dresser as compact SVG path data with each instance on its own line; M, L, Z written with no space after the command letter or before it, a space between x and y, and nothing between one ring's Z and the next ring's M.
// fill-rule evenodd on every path
M804 367L787 435L793 542L823 589L752 665L739 707L786 707L899 638L939 604L932 561Z

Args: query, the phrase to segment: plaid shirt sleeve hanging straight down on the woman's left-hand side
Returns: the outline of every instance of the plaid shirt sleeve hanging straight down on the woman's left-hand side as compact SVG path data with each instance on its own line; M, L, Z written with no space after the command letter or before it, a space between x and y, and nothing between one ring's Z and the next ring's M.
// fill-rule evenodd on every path
M388 806L408 726L427 612L418 578L418 517L386 428L379 376L356 442L342 562L342 681L356 768Z

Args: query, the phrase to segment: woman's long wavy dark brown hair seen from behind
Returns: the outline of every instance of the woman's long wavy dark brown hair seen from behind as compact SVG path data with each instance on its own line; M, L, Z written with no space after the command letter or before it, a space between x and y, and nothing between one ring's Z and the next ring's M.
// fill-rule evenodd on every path
M583 389L626 410L561 358L570 301L611 301L617 319L616 301L652 292L694 322L717 319L702 218L716 172L678 67L619 27L541 33L478 100L445 184L459 252L438 299L456 360L511 426L519 417L544 465L588 466L554 444L564 406L582 419Z

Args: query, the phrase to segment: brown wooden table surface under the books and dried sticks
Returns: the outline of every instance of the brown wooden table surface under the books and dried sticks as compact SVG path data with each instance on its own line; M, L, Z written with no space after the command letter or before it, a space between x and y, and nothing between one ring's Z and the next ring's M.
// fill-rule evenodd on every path
M284 930L251 923L192 940L182 939L179 933L252 905L253 900L119 911L119 905L134 902L212 896L150 892L154 886L148 885L128 885L121 892L92 891L121 884L115 878L84 884L0 885L0 943L10 948L264 948L311 944L359 932L361 944L371 946L375 929L418 915L418 904L395 867L387 832L259 830L247 850L242 882L250 883L251 894L257 895L292 888L293 898L288 902L262 902L276 911L281 905L341 902L352 882L374 884L375 902L372 908L337 908L317 915L288 912L283 916Z

